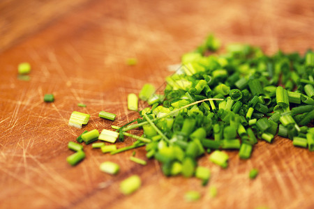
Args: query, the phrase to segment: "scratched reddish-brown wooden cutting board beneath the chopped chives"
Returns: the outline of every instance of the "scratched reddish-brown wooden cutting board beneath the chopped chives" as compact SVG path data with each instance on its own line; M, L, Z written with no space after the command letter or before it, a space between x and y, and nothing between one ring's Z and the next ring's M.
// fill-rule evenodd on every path
M195 178L166 178L154 160L144 167L130 162L133 151L105 155L84 146L82 163L66 162L68 141L83 130L136 118L127 94L147 82L162 86L171 74L167 65L179 63L208 33L268 54L303 54L314 48L313 26L314 1L306 0L0 1L0 208L314 208L314 153L280 137L260 141L250 160L228 151L227 169L202 157L199 164L211 169L207 187ZM131 57L137 65L126 65ZM24 61L32 66L29 82L17 79ZM55 102L44 103L45 93ZM117 120L98 118L101 110ZM82 130L67 125L72 111L91 114ZM136 156L146 159L144 148ZM99 171L107 160L120 164L117 176ZM252 168L260 170L255 180L248 178ZM142 187L124 196L119 183L133 174ZM210 186L218 189L214 199ZM184 201L189 190L202 198Z

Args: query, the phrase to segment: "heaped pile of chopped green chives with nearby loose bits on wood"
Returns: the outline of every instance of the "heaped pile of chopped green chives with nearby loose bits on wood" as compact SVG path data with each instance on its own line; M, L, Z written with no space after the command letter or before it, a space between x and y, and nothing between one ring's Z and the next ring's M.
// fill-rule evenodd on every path
M314 53L308 50L301 56L279 51L267 56L258 47L234 44L226 47L225 54L214 54L219 47L220 41L209 36L195 52L184 54L179 70L166 78L163 95L145 84L138 98L150 107L139 111L140 118L122 127L112 125L115 131L84 132L77 141L115 143L133 137L137 141L127 147L103 142L92 147L114 155L146 146L147 158L160 162L165 176L195 176L203 185L211 175L208 168L197 166L197 159L204 153L211 153L209 160L225 169L229 157L223 150L239 150L239 158L245 160L259 140L271 143L276 136L313 151ZM138 111L138 98L135 93L128 95L128 109ZM99 116L112 121L115 118L105 111ZM88 121L89 115L73 112L69 125L82 127ZM144 134L128 133L135 128L142 128ZM84 158L80 146L71 144L69 148L81 154L77 160L70 159L70 164ZM134 156L130 160L147 164ZM115 174L119 166L106 162L100 170ZM253 169L250 178L257 173ZM124 194L138 187L138 176L121 183ZM212 196L217 193L216 187L213 191ZM190 201L199 198L197 192L186 194Z

